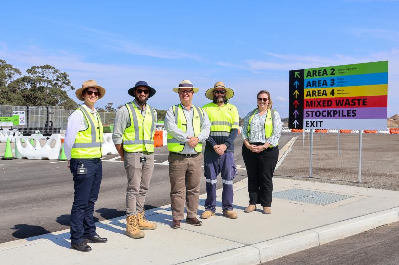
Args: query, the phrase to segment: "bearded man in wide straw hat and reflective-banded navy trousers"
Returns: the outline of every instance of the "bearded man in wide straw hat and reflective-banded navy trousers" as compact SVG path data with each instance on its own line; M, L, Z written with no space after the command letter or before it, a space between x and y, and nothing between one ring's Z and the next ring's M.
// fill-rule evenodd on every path
M206 140L204 171L206 177L205 211L201 218L207 219L216 211L217 175L221 174L223 182L222 209L223 215L235 219L233 212L233 179L237 173L234 162L234 140L238 135L239 116L237 108L229 103L234 95L231 88L226 88L221 81L206 91L205 96L212 100L202 108L210 120L210 134Z

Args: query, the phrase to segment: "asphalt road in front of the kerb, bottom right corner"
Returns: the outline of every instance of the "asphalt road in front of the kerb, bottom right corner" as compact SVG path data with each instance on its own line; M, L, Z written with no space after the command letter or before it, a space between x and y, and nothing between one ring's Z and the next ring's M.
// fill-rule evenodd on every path
M276 259L264 265L397 265L399 223Z

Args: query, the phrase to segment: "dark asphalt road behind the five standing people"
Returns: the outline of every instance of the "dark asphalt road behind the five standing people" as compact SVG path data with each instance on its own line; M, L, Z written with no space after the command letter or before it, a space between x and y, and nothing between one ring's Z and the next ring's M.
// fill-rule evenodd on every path
M283 133L282 148L294 135ZM235 141L237 176L247 177L241 155L241 135ZM155 167L145 209L170 204L166 146L155 148ZM0 160L0 243L69 228L73 201L73 178L66 161ZM95 207L95 219L125 215L126 173L117 155L103 159L103 179ZM220 182L218 182L219 185ZM218 186L218 188L221 187ZM205 193L205 177L201 194ZM246 206L246 205L245 205Z

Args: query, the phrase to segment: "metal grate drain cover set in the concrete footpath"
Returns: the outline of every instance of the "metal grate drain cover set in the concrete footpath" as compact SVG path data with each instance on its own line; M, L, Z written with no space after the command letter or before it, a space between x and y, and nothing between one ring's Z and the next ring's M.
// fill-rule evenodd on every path
M274 192L273 198L311 203L317 205L327 205L340 200L352 198L352 196L293 188L284 191Z

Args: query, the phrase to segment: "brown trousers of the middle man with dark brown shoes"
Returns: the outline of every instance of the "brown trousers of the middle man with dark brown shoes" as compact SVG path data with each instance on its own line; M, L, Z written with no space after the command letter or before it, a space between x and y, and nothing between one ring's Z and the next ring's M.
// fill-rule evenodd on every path
M169 152L168 162L173 219L184 219L185 199L187 218L197 217L202 176L202 153L195 157L185 157Z

